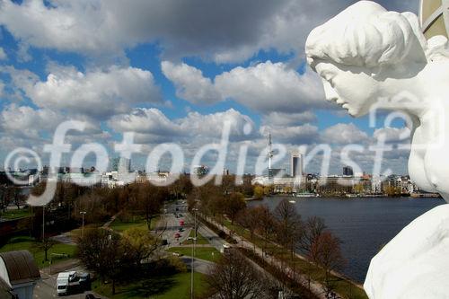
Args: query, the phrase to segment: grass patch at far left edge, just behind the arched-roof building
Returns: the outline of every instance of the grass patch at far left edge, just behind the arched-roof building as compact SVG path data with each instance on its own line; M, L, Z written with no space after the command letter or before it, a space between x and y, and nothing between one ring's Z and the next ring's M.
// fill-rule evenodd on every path
M12 238L7 244L0 248L0 252L4 251L30 251L36 260L36 264L39 268L48 267L48 262L44 264L44 251L36 251L34 248L34 239L30 237L15 237ZM75 245L67 245L63 243L57 243L48 251L48 259L50 258L50 253L66 253L68 255L68 259L73 259L76 257L75 254L76 246ZM57 262L65 260L67 258L54 257L52 258L53 265L57 264Z

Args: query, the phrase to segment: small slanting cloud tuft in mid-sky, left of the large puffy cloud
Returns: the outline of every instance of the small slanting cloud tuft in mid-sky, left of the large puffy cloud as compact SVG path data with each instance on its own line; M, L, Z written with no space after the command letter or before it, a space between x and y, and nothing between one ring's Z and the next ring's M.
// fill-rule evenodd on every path
M175 65L170 61L162 62L165 75L176 88L176 95L184 100L198 104L211 104L221 101L221 95L216 91L209 78L203 76L198 68L184 63Z

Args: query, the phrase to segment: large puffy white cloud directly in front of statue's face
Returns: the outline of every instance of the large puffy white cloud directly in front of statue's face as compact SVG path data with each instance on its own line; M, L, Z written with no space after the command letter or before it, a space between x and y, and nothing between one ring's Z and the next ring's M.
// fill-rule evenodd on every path
M267 61L238 66L216 76L216 88L225 97L265 112L300 112L324 107L322 84L312 72L299 75L284 63Z

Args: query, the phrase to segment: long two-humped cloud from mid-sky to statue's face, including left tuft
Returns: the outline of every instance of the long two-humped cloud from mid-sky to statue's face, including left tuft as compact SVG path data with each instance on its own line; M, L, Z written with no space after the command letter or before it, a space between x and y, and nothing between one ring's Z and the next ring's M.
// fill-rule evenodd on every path
M177 94L194 103L233 99L266 113L328 107L327 102L322 101L322 85L317 75L312 72L300 75L281 62L238 66L217 75L214 84L193 66L163 62L163 71L172 80Z

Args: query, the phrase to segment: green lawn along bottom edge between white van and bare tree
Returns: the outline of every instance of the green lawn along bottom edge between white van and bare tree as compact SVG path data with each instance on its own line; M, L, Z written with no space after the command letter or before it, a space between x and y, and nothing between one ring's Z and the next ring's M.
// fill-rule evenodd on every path
M195 272L195 295L201 295L204 289L204 275ZM173 276L151 277L126 286L116 286L116 295L111 295L110 284L101 285L99 280L92 283L92 291L110 299L189 299L190 273Z

